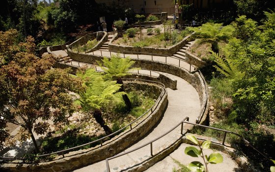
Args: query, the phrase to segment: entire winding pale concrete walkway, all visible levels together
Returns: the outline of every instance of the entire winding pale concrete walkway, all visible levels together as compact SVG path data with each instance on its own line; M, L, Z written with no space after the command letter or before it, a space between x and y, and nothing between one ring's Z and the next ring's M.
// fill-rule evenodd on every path
M58 52L60 53L60 52ZM63 52L65 53L65 52ZM65 53L66 54L66 53ZM92 53L90 53L92 54ZM97 54L101 56L110 57L110 52L100 52L95 51L93 54ZM59 54L60 55L60 54ZM131 58L138 58L138 55L127 55ZM139 58L143 59L150 59L151 56L147 55L139 55ZM178 60L175 58L167 58L167 63L177 65L178 66ZM156 61L165 61L164 57L154 57L153 60ZM74 61L68 62L73 63ZM80 64L78 64L80 65ZM186 68L189 70L190 65L186 62L183 62L180 64L180 67ZM194 70L194 68L191 68L191 71ZM158 72L161 73L161 72ZM198 116L200 112L200 101L197 91L185 80L182 78L179 78L177 76L169 75L172 78L175 78L177 80L177 89L172 90L170 88L166 88L168 91L168 106L165 111L165 114L159 124L152 129L150 133L148 133L143 139L138 141L136 144L130 146L124 151L133 150L134 148L144 144L148 143L155 138L161 136L166 131L171 129L173 126L175 126L177 123L179 123L184 117L189 116L191 122L195 123L195 119ZM184 125L186 126L186 125ZM153 143L153 152L157 152L156 149L163 149L165 148L169 142L176 141L181 137L180 135L180 126L177 127L175 130L173 130L171 133L163 137L162 139L158 140L157 142ZM167 155L163 160L159 161L152 167L146 170L146 172L171 172L174 169L179 169L178 165L174 162L173 159L178 160L184 165L189 164L192 161L197 161L197 159L192 159L192 157L188 157L184 154L184 148L188 146L188 144L182 143L174 152L170 153L170 155ZM212 150L207 150L212 151ZM211 152L210 152L211 153ZM208 154L210 154L208 153ZM210 167L211 172L234 172L238 171L239 167L231 159L231 157L227 154L224 154L220 152L224 158L224 163L215 165L214 167ZM123 155L119 158L112 159L109 161L110 164L110 171L111 172L119 172L119 171L126 171L127 169L131 169L131 167L137 165L138 163L144 162L148 159L150 159L150 146L147 145L141 149L138 149L137 151L134 151L132 153L129 153L127 155ZM198 160L201 161L202 160ZM226 168L225 168L226 167ZM100 161L91 165L88 165L86 167L80 168L78 170L75 170L74 172L106 172L106 161Z

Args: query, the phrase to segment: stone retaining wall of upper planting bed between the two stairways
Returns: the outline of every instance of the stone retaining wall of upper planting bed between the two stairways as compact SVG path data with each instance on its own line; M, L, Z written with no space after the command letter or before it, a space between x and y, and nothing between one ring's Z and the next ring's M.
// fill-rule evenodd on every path
M109 51L111 52L135 52L135 54L159 54L159 55L166 55L172 56L175 52L179 51L184 45L186 45L189 41L188 38L190 35L186 36L182 41L179 43L171 46L170 48L153 48L153 47L133 47L133 46L124 46L124 45L117 45L113 44L112 42L109 43Z

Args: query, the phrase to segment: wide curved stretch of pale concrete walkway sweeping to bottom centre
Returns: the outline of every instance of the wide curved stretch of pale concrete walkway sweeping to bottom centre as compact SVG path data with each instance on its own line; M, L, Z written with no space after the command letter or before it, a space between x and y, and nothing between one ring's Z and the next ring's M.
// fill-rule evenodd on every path
M170 74L168 74L170 75ZM166 88L168 91L168 107L160 123L149 133L146 137L140 140L138 143L132 145L128 150L132 150L144 143L147 143L171 129L177 123L179 123L184 117L189 116L191 122L195 122L197 115L200 112L200 101L197 91L185 80L170 75L177 80L177 89L172 90ZM162 147L166 145L167 141L174 140L174 136L180 133L180 126L177 130L172 131L169 135L160 139L154 143L154 147ZM130 154L121 156L119 158L110 160L111 171L120 171L126 165L136 164L137 160L141 158L145 160L150 157L150 146L141 148ZM106 162L100 161L98 163L83 167L82 169L75 170L74 172L105 172Z

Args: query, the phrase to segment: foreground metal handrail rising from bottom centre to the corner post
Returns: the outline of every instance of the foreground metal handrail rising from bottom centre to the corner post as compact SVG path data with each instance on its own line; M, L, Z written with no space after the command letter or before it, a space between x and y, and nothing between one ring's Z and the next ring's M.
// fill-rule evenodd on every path
M131 152L134 152L134 151L136 151L136 150L138 150L138 149L140 149L140 148L142 148L142 147L144 147L144 146L146 146L146 145L148 145L148 144L150 144L150 152L151 152L151 156L153 156L153 142L155 142L155 141L157 141L157 140L163 138L165 135L167 135L168 133L170 133L171 131L173 131L175 128L177 128L179 125L181 125L181 134L183 134L183 122L184 122L185 120L188 120L188 121L189 121L189 117L185 117L181 122L179 122L177 125L175 125L173 128L171 128L169 131L167 131L167 132L164 133L163 135L157 137L156 139L154 139L154 140L152 140L152 141L150 141L150 142L148 142L148 143L142 144L142 145L138 146L137 148L132 149L132 150L129 150L129 151L127 151L127 152L123 152L123 153L120 153L120 154L118 154L118 155L112 156L112 157L110 157L110 158L106 158L107 172L110 172L109 160L114 159L114 158L117 158L117 157L120 157L120 156L123 156L123 155L126 155L126 154L131 153Z

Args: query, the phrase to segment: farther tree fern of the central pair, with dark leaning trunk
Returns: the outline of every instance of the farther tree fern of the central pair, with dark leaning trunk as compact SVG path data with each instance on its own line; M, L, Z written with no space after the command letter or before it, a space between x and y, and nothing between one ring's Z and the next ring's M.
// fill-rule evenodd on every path
M121 85L119 91L124 91L123 81L121 78L126 75L131 75L129 73L131 69L137 69L137 68L132 68L135 61L132 61L130 57L121 58L119 54L112 55L110 58L104 57L102 60L103 63L101 61L97 61L97 62L99 66L106 73L104 78L116 80L116 83ZM127 94L123 95L123 100L127 109L131 110L132 104Z

